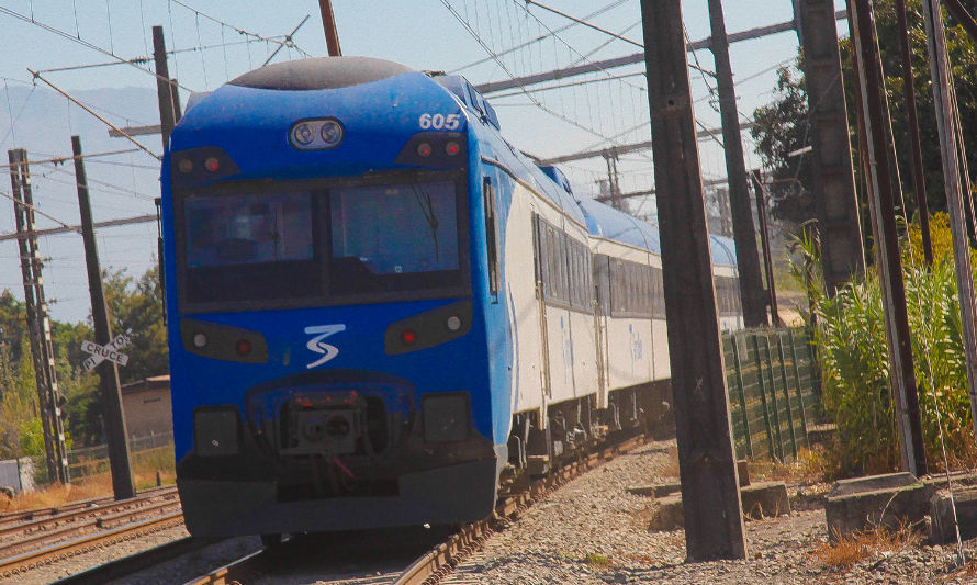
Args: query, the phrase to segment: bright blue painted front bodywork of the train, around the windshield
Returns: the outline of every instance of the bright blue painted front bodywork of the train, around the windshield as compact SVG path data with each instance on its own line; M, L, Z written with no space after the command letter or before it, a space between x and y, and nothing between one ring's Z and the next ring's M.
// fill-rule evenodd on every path
M164 164L170 154L217 146L240 172L232 179L272 178L277 181L344 177L418 168L394 159L408 139L423 132L422 114L459 114L454 132L469 132L469 116L446 88L419 72L341 89L276 91L224 86L187 112L173 131ZM288 139L297 120L332 116L345 127L342 144L329 150L301 151ZM478 125L485 125L475 122ZM494 128L493 128L494 130ZM469 133L469 162L481 167L479 136ZM491 149L492 147L490 147ZM433 169L437 170L437 169ZM172 185L162 177L162 222L166 234L175 233ZM499 200L503 200L499 196ZM176 457L179 461L193 448L192 413L199 406L231 404L244 407L247 389L306 371L317 357L306 348L307 326L345 324L346 330L330 337L339 355L322 368L386 372L409 380L418 392L468 391L474 430L504 446L510 420L507 363L490 359L507 338L504 306L493 305L485 275L485 225L481 203L481 176L470 172L469 257L474 318L464 337L420 351L388 356L383 338L386 326L397 319L446 305L456 299L304 307L258 312L191 314L207 320L255 330L268 341L269 361L262 364L214 360L188 352L179 335L181 311L178 297L175 238L165 241L168 327L171 331L170 371L173 389ZM486 330L493 331L488 339ZM435 364L458 364L443 368Z

